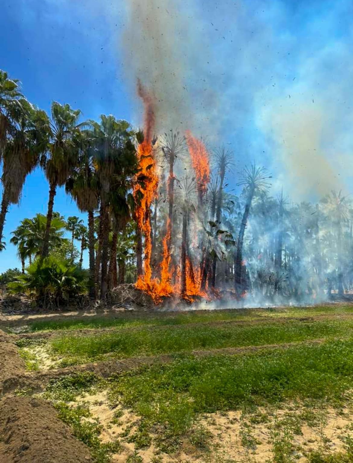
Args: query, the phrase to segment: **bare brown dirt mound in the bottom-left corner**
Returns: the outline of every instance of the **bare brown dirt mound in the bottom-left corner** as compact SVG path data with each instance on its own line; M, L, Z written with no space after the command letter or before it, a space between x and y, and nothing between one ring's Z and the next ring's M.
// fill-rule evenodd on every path
M55 408L41 399L7 397L0 402L2 463L91 462L85 444L71 435Z

